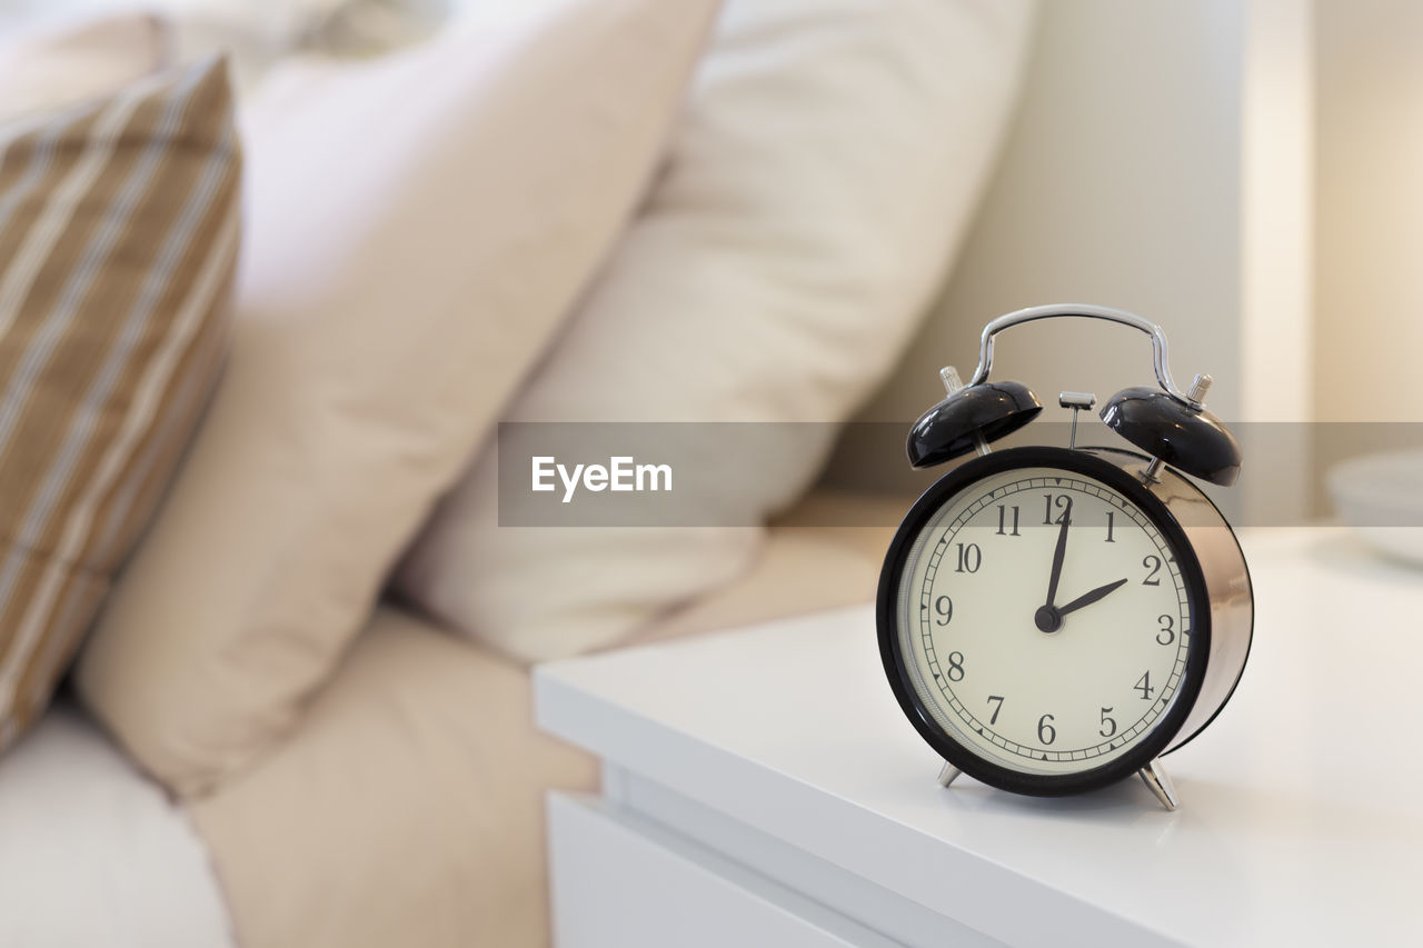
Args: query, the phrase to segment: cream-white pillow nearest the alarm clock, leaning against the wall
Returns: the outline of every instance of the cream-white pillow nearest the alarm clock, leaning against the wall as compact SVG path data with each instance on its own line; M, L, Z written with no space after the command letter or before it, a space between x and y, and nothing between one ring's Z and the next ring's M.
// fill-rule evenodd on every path
M1027 0L731 0L672 162L511 421L840 421L895 363L1009 115ZM687 437L696 437L689 430ZM712 457L724 522L794 500L834 427ZM690 453L690 451L689 451ZM743 572L758 531L499 528L484 454L400 594L539 660L618 642Z

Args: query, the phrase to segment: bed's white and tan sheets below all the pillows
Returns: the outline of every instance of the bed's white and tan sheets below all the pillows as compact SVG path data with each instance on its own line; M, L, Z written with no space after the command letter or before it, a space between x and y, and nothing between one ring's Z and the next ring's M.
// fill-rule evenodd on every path
M808 498L639 641L869 601L889 528L814 524L898 507ZM527 668L387 604L300 729L196 804L61 699L0 766L0 944L546 944L544 793L596 784L535 730Z

